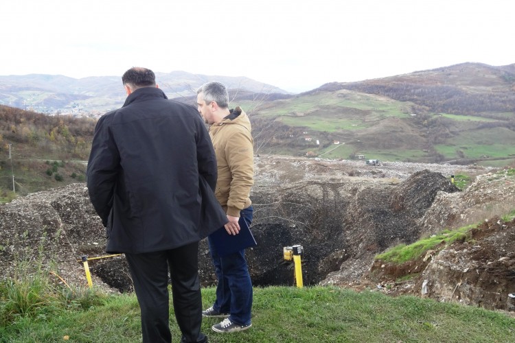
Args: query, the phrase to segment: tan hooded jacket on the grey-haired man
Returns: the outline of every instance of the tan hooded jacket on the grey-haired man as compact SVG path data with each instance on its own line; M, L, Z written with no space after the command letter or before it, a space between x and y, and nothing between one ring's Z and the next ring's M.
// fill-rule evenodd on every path
M251 122L238 106L220 123L209 128L218 165L215 196L227 215L240 217L251 206L254 183L254 150Z

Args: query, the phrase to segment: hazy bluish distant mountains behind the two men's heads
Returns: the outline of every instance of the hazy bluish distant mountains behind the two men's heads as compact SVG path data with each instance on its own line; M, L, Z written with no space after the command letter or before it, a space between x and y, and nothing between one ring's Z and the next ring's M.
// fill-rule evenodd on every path
M198 75L185 71L156 72L159 87L170 98L191 97L209 81L250 93L288 94L280 88L246 77ZM35 110L40 113L105 112L122 106L126 94L120 76L69 78L62 75L0 76L0 105Z

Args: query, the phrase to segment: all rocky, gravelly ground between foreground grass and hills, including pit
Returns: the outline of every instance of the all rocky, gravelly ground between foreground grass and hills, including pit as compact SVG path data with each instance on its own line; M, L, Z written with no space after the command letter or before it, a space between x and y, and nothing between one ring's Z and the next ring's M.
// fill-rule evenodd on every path
M251 228L258 246L247 251L255 285L293 285L293 265L284 261L282 250L301 244L306 285L417 294L514 311L507 294L515 292L515 228L496 217L515 209L515 176L507 171L263 156L255 158L255 174ZM450 176L458 174L472 176L464 191L450 183ZM69 284L85 285L78 260L105 255L104 228L84 184L2 204L0 218L0 260L5 266L0 279L28 261L50 265ZM375 255L398 243L479 221L485 224L474 233L473 243L459 242L413 265L374 262ZM205 240L199 260L201 282L213 285L216 277ZM89 264L96 286L130 291L123 256ZM405 279L403 272L414 276Z

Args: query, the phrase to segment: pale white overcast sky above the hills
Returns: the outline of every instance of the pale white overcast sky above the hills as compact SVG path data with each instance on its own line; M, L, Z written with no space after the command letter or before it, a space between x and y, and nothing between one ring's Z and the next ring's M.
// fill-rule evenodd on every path
M247 76L299 92L515 63L512 0L2 0L0 75ZM159 82L159 80L158 80Z

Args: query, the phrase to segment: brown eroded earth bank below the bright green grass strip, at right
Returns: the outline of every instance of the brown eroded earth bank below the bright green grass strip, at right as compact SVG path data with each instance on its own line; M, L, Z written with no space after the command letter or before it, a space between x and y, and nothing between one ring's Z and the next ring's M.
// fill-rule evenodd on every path
M493 217L469 238L402 264L376 260L354 287L515 311L515 220Z

